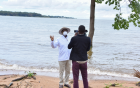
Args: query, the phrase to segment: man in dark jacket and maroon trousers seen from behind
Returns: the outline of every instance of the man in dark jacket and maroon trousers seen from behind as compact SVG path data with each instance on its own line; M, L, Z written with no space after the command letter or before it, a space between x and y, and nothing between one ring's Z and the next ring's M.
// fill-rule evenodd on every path
M85 27L79 26L79 34L73 37L68 45L71 49L70 60L72 60L73 88L79 88L79 70L81 71L84 88L88 88L87 80L87 51L90 50L90 38L84 35Z

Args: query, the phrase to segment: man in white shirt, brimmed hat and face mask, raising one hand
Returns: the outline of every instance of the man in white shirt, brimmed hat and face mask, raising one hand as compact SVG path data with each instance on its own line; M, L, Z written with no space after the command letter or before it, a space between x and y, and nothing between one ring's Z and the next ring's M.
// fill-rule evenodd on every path
M63 83L65 87L71 88L69 85L69 75L70 75L70 67L71 67L71 61L70 53L71 50L67 48L69 44L68 36L67 34L70 32L69 28L63 27L59 30L59 34L62 36L57 38L56 41L54 41L54 36L50 36L51 39L51 46L52 48L56 48L58 46L59 48L59 88L63 88ZM63 73L65 71L65 80L63 80Z

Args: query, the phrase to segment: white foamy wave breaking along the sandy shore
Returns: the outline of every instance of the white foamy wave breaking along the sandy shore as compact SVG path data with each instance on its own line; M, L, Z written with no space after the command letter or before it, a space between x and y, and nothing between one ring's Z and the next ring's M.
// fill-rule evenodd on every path
M27 68L27 67L18 66L17 64L7 65L4 63L0 63L0 74L1 73L6 74L7 73L6 70L9 72L12 72L12 73L16 72L16 74L24 74L24 72L31 71L31 72L37 72L39 75L44 75L44 76L51 76L51 77L53 77L54 75L57 75L55 77L59 76L58 69ZM52 74L53 74L53 76L52 76ZM110 78L112 78L112 77L115 77L116 80L121 79L121 78L127 78L127 79L133 79L133 80L136 79L136 77L134 77L133 75L121 74L121 73L115 73L115 72L114 73L113 72L102 72L98 69L92 70L90 68L88 69L88 74L94 75L96 77L96 79L105 79L105 80L110 80ZM106 76L106 77L104 78L104 76ZM71 78L72 78L72 75L71 75ZM90 79L93 80L94 78L90 78Z

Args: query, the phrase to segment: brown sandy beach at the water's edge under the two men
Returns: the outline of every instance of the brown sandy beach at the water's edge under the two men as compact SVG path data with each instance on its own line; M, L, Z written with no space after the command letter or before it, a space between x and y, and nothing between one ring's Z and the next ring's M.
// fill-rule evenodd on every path
M23 75L1 75L0 76L0 85L6 84L9 85L12 80L16 78L20 78ZM48 76L38 76L36 75L36 80L31 79L23 79L20 81L13 82L13 85L10 88L58 88L59 78L56 77L48 77ZM71 88L73 88L72 79L69 81ZM83 82L79 81L79 88L83 88ZM136 86L137 81L120 81L120 80L90 80L89 88L105 88L106 84L114 84L119 83L120 87L117 88L140 88ZM122 86L121 86L122 85ZM0 86L0 88L4 88ZM66 87L64 87L66 88ZM114 88L114 87L109 87Z

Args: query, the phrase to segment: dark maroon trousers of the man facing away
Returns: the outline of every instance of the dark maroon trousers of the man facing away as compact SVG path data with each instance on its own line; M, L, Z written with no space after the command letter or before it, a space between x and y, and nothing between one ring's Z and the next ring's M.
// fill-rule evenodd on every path
M88 88L87 62L84 64L79 64L76 61L72 61L72 71L73 71L73 79L74 79L73 88L79 88L79 84L78 84L79 70L81 71L82 74L84 88Z

